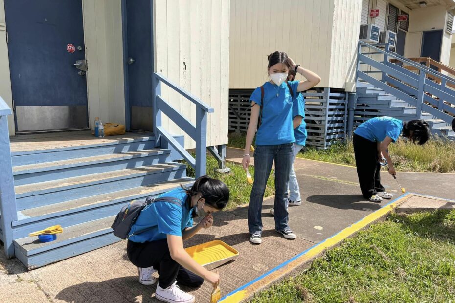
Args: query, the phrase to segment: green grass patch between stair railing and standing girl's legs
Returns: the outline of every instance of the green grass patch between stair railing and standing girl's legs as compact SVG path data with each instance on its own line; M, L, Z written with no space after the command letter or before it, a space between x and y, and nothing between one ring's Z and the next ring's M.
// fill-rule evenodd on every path
M241 165L226 163L226 166L231 170L229 173L218 173L215 171L215 169L218 167L218 162L213 157L207 157L207 175L223 181L228 186L230 197L227 209L229 209L242 204L246 204L250 201L252 185L247 182L246 173ZM186 164L186 169L187 175L194 178L194 169L188 164ZM250 174L254 176L254 166L250 166L249 171ZM275 177L274 172L272 171L269 177L269 181L267 182L264 197L274 195L274 182Z

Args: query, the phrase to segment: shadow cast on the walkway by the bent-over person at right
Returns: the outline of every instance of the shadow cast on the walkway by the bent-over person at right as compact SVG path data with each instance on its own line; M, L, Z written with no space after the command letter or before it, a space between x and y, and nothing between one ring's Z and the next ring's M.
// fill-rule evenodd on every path
M388 203L388 200L384 200L383 203L368 202L362 195L311 195L307 201L338 209L359 209L363 211L378 210L382 204Z

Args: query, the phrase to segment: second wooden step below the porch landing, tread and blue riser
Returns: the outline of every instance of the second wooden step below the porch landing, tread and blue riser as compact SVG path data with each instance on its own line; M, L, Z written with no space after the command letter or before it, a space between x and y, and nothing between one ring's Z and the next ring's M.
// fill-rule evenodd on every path
M17 209L21 211L185 176L186 165L167 162L18 185L15 186Z

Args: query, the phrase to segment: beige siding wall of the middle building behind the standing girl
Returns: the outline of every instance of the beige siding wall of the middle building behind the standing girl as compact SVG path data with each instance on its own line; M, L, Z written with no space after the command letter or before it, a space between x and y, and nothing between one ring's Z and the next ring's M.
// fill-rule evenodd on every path
M318 87L344 88L353 82L361 6L362 0L231 0L229 88L267 81L267 55L276 50L316 72Z

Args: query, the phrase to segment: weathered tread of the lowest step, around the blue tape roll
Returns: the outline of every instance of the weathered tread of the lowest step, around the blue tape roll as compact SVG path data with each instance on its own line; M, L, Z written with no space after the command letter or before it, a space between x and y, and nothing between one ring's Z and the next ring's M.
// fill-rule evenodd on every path
M99 220L94 220L82 224L77 224L73 226L69 226L63 229L63 233L57 234L57 239L51 242L42 243L38 241L38 237L25 237L14 240L16 244L21 246L21 249L26 252L26 255L33 254L33 250L42 251L42 248L45 246L49 247L59 247L62 245L66 245L65 242L74 240L75 238L81 236L90 236L90 234L95 232L102 232L106 231L111 228L112 222L114 222L115 216L109 216L106 218L102 218ZM90 238L90 237L87 237ZM63 242L63 243L62 243Z

